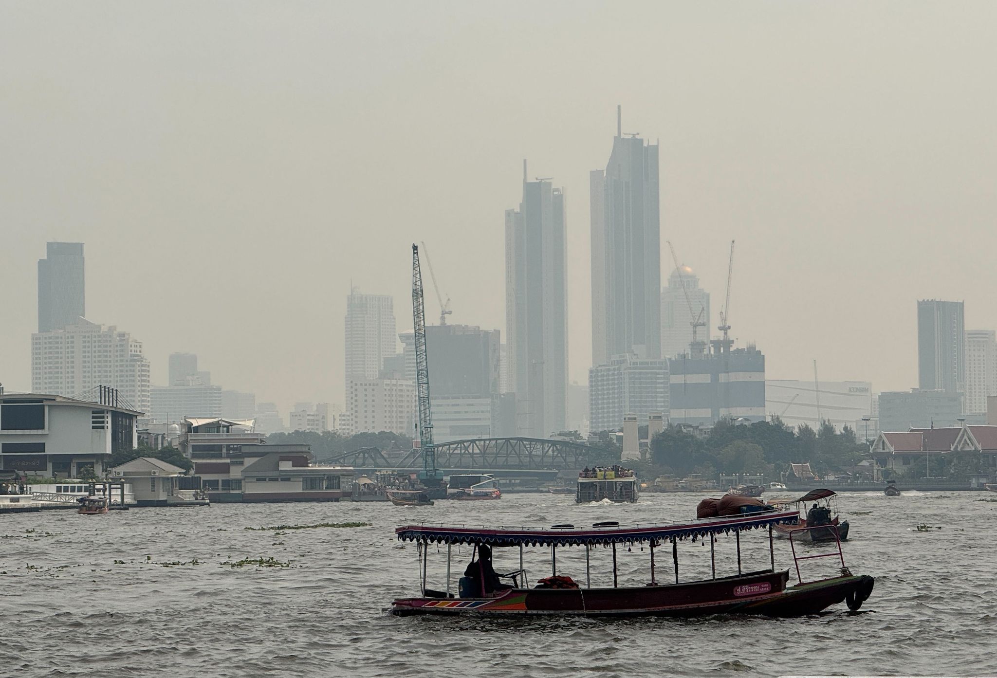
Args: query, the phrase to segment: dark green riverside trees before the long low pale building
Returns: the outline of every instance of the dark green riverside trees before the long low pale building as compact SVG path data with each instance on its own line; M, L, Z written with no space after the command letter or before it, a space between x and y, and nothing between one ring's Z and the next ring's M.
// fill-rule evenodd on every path
M857 464L868 448L844 427L840 433L828 422L818 430L802 425L789 428L778 418L754 424L718 422L706 437L669 426L651 441L650 465L645 473L679 478L702 474L764 474L778 479L790 464L810 463L818 475Z

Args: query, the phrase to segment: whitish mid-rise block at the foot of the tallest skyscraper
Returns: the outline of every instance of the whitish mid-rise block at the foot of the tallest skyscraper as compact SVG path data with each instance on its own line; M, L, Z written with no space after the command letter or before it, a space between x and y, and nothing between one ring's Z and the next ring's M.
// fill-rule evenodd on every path
M591 431L616 431L624 415L646 424L651 413L668 412L668 361L613 356L607 365L588 371L588 419Z

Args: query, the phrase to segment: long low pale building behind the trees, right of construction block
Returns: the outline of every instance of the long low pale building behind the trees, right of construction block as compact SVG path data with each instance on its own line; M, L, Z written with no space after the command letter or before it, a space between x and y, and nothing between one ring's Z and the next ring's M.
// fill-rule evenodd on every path
M869 382L766 379L765 411L792 428L806 424L812 429L821 422L830 422L840 432L845 426L861 437L864 431L855 429L855 422L872 415L872 385Z

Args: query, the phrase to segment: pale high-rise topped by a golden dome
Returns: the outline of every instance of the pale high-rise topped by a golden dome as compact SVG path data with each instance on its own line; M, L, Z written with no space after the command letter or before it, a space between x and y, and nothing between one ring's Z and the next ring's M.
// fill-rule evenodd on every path
M690 303L692 311L689 310ZM676 268L672 272L668 278L668 286L661 290L663 357L674 358L689 353L689 345L693 339L693 321L703 323L696 328L696 341L703 342L705 348L710 342L710 293L700 288L699 278L692 268L683 264L681 270Z

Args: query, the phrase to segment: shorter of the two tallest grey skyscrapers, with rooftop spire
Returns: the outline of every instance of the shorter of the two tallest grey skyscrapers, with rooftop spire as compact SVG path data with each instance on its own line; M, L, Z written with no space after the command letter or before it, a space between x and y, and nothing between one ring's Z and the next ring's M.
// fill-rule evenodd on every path
M545 438L562 431L567 410L567 276L564 193L529 181L505 210L505 334L516 430Z

